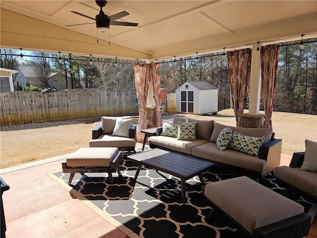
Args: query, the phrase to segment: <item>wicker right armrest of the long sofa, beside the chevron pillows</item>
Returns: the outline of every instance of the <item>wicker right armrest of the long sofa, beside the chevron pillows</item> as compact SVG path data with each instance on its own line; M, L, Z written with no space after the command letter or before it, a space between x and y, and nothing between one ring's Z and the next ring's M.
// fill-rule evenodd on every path
M259 151L259 159L266 160L266 168L262 178L272 172L281 161L282 140L273 139L263 144Z

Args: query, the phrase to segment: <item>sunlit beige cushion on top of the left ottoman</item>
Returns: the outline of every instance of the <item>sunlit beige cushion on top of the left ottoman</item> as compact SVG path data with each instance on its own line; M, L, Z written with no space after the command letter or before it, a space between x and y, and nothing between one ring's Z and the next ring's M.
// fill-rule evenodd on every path
M109 167L117 152L115 147L80 148L66 158L66 164L73 167Z

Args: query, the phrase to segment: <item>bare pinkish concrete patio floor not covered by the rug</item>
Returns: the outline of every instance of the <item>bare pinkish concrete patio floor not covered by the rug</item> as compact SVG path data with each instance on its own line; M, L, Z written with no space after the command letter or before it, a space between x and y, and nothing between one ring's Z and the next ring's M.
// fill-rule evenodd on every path
M142 147L142 144L137 145ZM10 186L3 193L7 238L126 238L48 174L61 170L65 155L0 170ZM291 155L281 155L289 165ZM308 238L317 238L317 217Z

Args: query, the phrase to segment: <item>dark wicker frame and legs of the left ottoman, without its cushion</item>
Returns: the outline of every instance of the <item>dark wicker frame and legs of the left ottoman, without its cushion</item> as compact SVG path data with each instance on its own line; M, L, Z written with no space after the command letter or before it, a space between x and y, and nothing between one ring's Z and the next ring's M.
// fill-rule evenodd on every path
M68 184L74 178L75 173L80 173L82 176L85 176L84 173L108 173L108 179L111 184L113 184L113 178L111 173L119 172L120 171L120 164L122 162L122 152L118 151L113 159L110 161L109 167L92 167L92 166L85 166L85 167L69 167L66 164L66 160L61 163L61 167L63 173L70 173L70 177L68 180Z

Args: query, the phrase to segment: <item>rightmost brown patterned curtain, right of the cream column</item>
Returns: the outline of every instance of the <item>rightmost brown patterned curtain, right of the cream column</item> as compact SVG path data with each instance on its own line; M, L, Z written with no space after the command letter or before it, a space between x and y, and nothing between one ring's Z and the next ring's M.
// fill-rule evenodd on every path
M272 111L275 96L278 68L279 46L277 44L261 47L261 87L265 121L264 128L272 128Z

